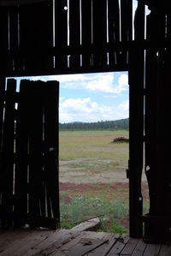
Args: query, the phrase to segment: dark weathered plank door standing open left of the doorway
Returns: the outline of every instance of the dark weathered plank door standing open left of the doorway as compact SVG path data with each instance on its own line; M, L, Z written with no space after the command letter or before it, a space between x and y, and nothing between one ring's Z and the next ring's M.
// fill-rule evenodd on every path
M8 80L1 146L2 227L59 227L59 82ZM16 104L18 106L16 107Z

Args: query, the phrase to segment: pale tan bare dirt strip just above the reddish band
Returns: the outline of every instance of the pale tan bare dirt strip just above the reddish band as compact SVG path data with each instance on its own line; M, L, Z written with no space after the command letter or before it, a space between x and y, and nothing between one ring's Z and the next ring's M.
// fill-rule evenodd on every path
M115 170L106 168L103 171L102 168L98 170L92 170L92 165L107 165L111 161L110 159L98 160L98 163L92 159L76 159L70 161L60 161L60 182L62 183L74 183L74 184L94 184L94 183L127 183L126 169L123 166L118 166ZM89 163L89 164L88 164ZM85 165L86 164L86 165ZM91 164L91 165L90 165ZM72 167L73 166L73 167ZM142 182L146 182L146 176L142 176Z

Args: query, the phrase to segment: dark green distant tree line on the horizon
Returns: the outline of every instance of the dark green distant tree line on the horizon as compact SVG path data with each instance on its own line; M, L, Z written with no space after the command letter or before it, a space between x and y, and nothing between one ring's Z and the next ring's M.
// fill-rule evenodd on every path
M101 122L68 122L60 123L60 130L128 130L129 119Z

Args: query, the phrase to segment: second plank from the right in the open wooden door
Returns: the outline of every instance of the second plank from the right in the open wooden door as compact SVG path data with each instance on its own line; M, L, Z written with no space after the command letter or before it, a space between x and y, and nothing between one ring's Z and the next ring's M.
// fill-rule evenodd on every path
M43 199L43 107L41 81L27 81L28 90L32 93L32 104L29 108L29 214L45 216Z

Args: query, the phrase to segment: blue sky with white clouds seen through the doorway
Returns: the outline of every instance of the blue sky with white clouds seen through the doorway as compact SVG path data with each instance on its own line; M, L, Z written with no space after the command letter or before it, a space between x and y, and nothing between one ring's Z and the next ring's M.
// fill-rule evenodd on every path
M137 1L133 0L133 12ZM127 72L52 75L60 82L59 122L98 122L129 116Z

